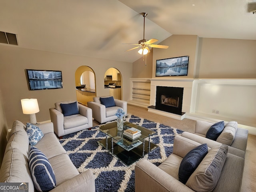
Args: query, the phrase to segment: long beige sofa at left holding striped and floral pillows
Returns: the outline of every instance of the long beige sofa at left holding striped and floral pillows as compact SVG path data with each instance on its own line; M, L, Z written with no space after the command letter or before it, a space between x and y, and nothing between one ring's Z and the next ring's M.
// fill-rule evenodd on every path
M52 122L37 126L44 136L35 147L48 158L56 177L56 187L51 191L95 191L94 174L90 170L79 174L55 136ZM28 164L29 149L26 126L17 120L10 131L0 170L0 182L28 182L29 192L35 191Z

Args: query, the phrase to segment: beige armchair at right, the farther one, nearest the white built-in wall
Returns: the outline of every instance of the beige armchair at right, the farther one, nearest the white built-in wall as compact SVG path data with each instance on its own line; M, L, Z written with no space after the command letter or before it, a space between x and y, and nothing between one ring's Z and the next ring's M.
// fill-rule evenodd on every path
M205 121L196 121L195 133L183 132L183 137L194 140L198 143L207 143L208 147L220 146L221 144L228 145L228 152L242 158L245 157L248 130L238 128L238 124L235 121L231 121L225 124L224 130L218 136L217 140L210 140L206 138L206 133L213 123Z

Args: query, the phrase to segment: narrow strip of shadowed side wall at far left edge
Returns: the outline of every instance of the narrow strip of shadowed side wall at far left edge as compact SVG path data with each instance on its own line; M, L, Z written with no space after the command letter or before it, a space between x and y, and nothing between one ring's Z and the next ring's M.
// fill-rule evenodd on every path
M2 100L2 93L0 90L0 167L2 164L3 156L4 156L4 150L6 148L6 134L7 134L7 121L6 116L4 112L4 104Z

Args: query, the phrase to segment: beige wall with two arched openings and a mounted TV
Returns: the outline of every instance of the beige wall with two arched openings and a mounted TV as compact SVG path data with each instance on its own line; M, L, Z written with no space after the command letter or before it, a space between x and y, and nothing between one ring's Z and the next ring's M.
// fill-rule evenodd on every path
M0 89L8 127L15 120L29 122L29 115L22 113L20 100L37 98L40 112L36 114L38 122L50 120L49 108L62 100L76 100L75 72L80 66L89 66L95 72L97 96L109 95L104 90L104 74L114 67L122 74L123 100L128 100L132 77L132 64L67 54L56 54L37 50L0 45ZM61 70L63 88L52 90L28 89L25 69Z

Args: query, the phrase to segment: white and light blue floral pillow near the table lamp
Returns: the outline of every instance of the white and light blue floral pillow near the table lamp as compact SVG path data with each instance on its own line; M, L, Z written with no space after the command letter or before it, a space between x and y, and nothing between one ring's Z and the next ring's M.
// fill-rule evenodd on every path
M28 134L28 140L30 145L37 144L37 142L40 141L40 139L42 139L42 137L44 136L40 128L31 123L27 123L26 132Z

